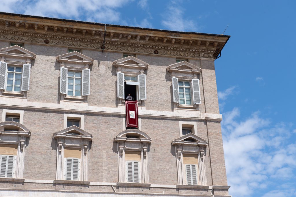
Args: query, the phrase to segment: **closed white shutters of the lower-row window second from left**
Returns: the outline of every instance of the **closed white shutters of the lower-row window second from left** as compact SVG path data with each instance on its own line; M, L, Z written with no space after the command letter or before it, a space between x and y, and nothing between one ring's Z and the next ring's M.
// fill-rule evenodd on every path
M65 180L80 180L80 159L65 158Z

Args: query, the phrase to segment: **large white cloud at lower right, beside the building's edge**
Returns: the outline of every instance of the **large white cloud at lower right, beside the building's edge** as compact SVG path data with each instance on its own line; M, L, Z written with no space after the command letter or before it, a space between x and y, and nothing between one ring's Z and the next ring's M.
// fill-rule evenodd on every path
M258 112L240 121L239 116L239 109L234 108L223 113L221 122L230 194L252 196L257 189L294 177L296 144L287 143L292 135L290 125L272 124ZM285 192L274 191L265 197Z

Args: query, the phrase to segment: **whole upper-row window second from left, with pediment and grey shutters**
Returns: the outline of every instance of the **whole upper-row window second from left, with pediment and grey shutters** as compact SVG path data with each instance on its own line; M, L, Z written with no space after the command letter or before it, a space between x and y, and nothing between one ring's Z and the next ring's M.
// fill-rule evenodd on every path
M77 50L57 56L60 62L60 93L62 102L87 102L90 94L90 69L93 59Z

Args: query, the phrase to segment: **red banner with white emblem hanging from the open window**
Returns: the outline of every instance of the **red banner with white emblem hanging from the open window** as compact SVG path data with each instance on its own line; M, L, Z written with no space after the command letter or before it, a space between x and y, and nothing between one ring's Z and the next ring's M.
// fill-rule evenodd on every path
M126 100L126 127L139 128L138 124L138 101Z

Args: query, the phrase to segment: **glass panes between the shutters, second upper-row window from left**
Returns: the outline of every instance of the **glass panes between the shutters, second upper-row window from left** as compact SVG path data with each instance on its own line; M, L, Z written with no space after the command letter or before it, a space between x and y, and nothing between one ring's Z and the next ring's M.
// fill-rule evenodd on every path
M68 71L68 96L81 96L81 72Z

